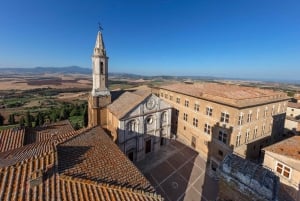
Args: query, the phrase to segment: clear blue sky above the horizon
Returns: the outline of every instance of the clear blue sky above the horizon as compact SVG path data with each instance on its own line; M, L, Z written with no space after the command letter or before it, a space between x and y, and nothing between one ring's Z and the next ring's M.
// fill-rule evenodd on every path
M91 68L98 21L111 72L300 79L299 0L6 0L0 67Z

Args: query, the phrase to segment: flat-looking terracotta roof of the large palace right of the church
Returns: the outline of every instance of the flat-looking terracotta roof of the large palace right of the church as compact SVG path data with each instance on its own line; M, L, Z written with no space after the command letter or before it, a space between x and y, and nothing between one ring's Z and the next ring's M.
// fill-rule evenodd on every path
M178 83L160 88L236 107L288 99L283 92L231 84Z

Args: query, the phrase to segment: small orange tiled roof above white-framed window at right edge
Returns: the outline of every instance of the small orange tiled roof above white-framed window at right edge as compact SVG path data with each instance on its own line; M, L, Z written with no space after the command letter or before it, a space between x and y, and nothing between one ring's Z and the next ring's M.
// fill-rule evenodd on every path
M300 160L300 136L293 136L282 140L264 148L264 150Z

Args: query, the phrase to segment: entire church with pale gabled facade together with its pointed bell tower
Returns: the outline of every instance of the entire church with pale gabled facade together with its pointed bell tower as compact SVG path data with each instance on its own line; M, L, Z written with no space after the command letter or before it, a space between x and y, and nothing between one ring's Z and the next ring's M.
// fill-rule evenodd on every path
M132 161L157 151L171 138L171 106L149 88L125 92L111 100L108 57L99 31L92 56L93 89L88 99L89 126L107 129Z

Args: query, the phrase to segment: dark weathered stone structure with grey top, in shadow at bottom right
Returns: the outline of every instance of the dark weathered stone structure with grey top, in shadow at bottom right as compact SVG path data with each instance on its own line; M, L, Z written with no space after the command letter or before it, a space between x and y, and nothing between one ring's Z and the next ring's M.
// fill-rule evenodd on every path
M218 201L278 201L279 180L270 170L234 154L218 168Z

